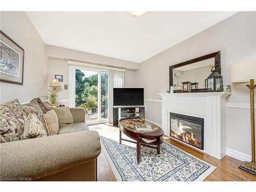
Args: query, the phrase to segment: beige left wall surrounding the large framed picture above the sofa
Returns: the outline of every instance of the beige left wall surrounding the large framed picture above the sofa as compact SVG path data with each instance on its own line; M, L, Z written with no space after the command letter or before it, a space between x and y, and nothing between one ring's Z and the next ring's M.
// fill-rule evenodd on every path
M47 57L45 44L25 12L1 12L1 30L24 48L23 86L1 82L0 103L18 98L21 103L45 94Z

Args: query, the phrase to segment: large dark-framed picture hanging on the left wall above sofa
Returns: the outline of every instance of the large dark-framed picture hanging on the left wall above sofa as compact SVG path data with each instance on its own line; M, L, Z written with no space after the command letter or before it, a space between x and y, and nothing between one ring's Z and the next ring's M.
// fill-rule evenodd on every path
M0 30L0 81L23 85L24 49Z

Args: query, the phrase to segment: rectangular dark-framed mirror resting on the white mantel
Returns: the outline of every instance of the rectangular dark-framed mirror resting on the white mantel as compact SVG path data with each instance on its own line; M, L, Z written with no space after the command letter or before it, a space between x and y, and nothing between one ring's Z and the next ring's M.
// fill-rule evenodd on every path
M169 66L169 88L173 86L174 93L218 92L207 88L207 77L214 68L221 74L220 63L221 51L217 51Z

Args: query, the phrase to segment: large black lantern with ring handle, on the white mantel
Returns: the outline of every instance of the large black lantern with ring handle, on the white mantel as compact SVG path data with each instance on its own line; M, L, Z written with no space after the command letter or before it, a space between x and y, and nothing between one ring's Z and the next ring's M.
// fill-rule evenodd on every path
M213 70L216 66L217 69ZM222 76L218 73L218 69L221 67L220 64L211 68L211 74L207 78L207 89L209 91L222 91Z

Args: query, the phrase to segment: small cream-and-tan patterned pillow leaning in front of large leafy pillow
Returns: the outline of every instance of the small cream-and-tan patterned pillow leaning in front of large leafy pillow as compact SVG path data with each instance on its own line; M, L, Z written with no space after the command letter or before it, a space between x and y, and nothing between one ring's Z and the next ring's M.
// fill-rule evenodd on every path
M25 139L45 137L47 136L44 125L41 121L33 114L29 114L24 125L23 137Z

